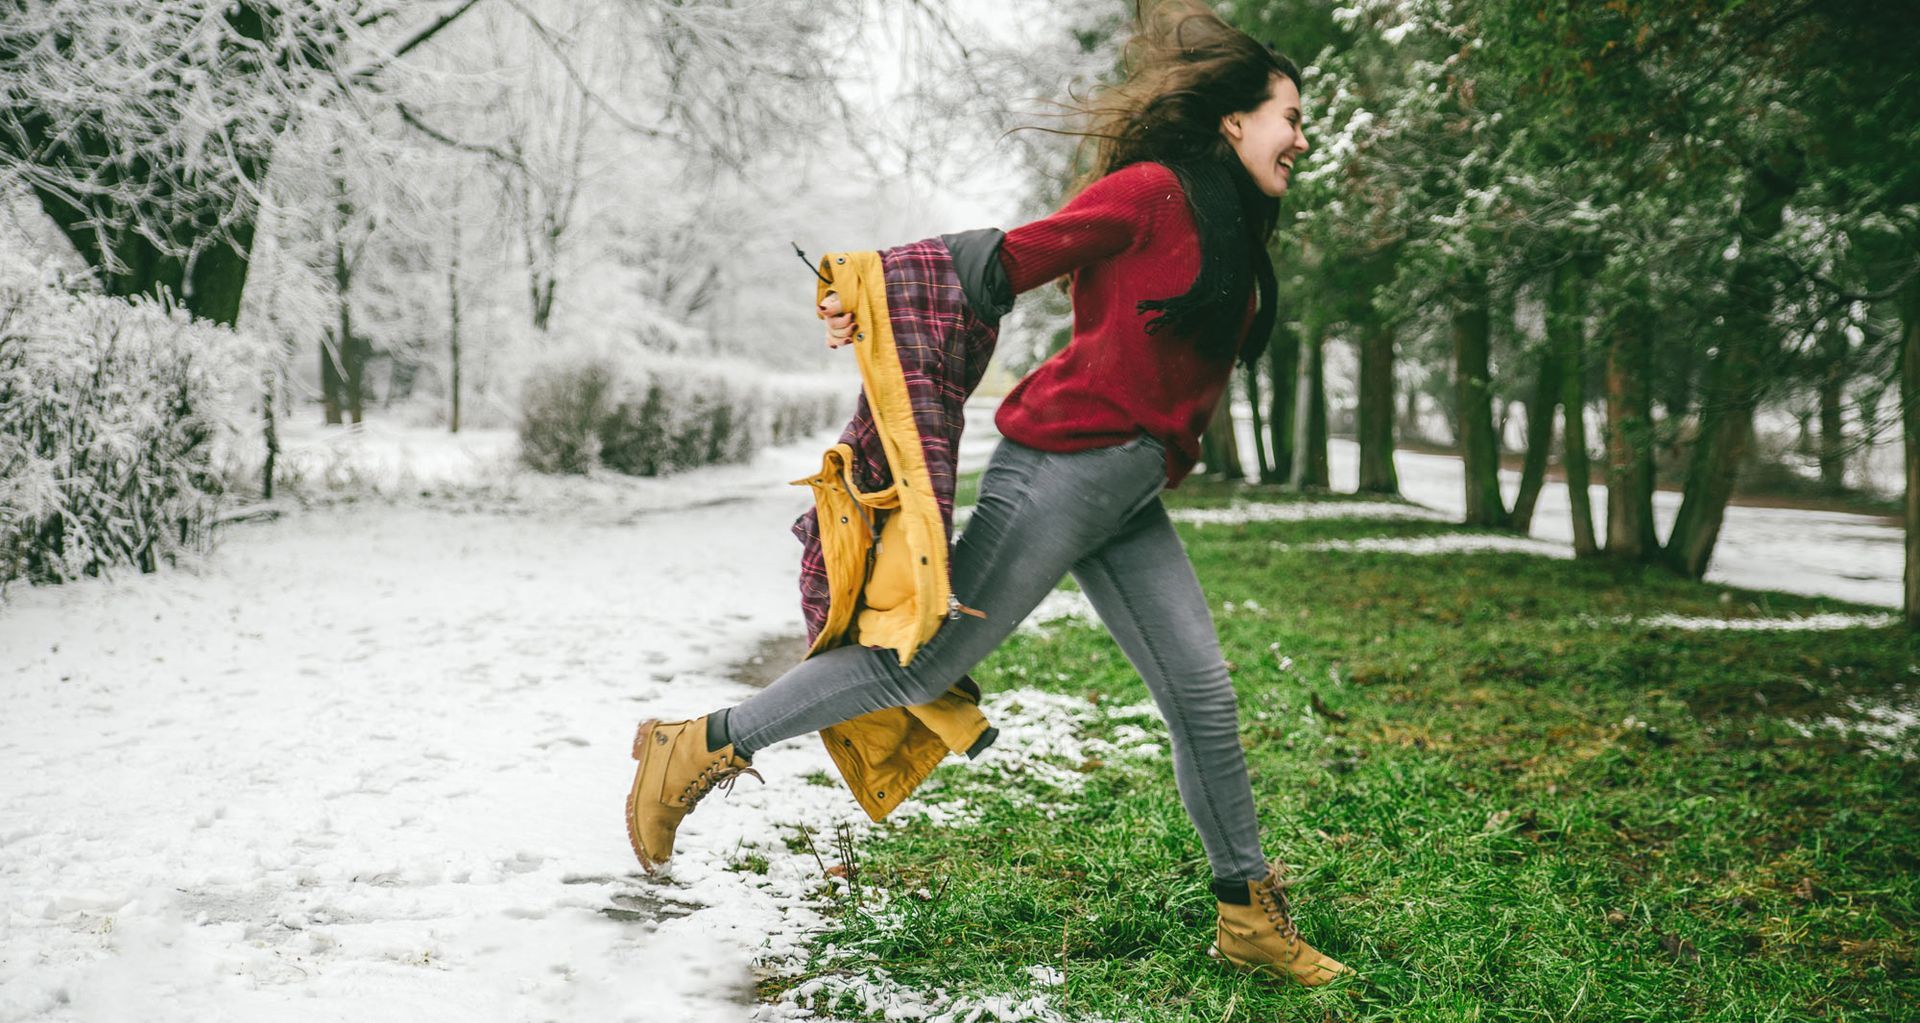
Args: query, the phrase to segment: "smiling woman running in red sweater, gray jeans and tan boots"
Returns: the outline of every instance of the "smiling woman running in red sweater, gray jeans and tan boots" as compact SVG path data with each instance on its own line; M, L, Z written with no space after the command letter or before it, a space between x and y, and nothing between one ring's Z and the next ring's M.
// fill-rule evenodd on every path
M1308 152L1300 71L1187 0L1142 21L1127 69L1092 109L1092 180L998 250L1004 292L1071 274L1073 338L1000 403L1006 440L952 551L952 591L995 614L945 622L908 666L841 645L737 706L643 722L634 793L664 797L630 795L628 829L651 869L682 816L751 772L755 750L935 699L1071 572L1167 722L1175 785L1213 873L1213 952L1321 985L1350 969L1300 939L1279 864L1261 852L1235 691L1160 503L1200 461L1235 357L1258 359L1273 328L1267 240ZM858 324L837 296L820 317L829 347L852 342Z

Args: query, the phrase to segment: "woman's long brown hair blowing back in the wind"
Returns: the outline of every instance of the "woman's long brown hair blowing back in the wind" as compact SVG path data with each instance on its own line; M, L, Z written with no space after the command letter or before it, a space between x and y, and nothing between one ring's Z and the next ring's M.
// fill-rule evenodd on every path
M1133 36L1121 48L1121 81L1098 86L1069 109L1087 121L1068 190L1131 163L1236 161L1219 119L1267 102L1273 75L1300 88L1300 67L1284 54L1221 21L1198 0L1135 0ZM1091 154L1089 154L1091 150ZM1258 242L1267 244L1281 203L1258 196L1250 209Z

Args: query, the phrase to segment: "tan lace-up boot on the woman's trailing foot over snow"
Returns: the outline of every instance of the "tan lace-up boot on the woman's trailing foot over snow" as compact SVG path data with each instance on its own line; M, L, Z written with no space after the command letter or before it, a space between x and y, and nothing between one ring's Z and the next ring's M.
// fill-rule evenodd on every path
M639 722L634 760L639 768L626 793L626 837L647 873L674 854L674 831L701 797L716 785L732 791L743 773L760 777L751 760L733 754L733 743L708 752L705 714L691 722Z

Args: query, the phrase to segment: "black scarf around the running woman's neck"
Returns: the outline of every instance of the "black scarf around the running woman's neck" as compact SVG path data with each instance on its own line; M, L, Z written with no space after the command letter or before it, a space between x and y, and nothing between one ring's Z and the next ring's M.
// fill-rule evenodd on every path
M1171 326L1181 334L1196 334L1204 353L1223 355L1233 351L1231 345L1238 338L1248 278L1252 278L1260 286L1260 305L1240 353L1240 363L1252 367L1267 349L1267 338L1273 334L1273 303L1279 290L1273 280L1273 259L1267 255L1267 246L1258 234L1260 225L1254 221L1254 211L1260 207L1260 188L1238 159L1196 159L1167 167L1181 178L1187 209L1192 211L1194 226L1200 232L1200 273L1187 294L1144 299L1135 305L1135 311L1160 311L1146 322L1148 334Z

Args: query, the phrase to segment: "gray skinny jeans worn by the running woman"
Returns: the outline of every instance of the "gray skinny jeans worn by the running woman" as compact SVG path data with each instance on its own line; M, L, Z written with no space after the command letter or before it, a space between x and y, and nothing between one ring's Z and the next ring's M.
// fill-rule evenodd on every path
M904 668L891 649L822 651L730 708L728 739L751 756L870 710L927 702L1071 572L1165 718L1173 781L1213 877L1265 877L1238 702L1164 488L1165 449L1146 434L1071 453L1002 440L952 551L954 595L987 618L941 622Z

